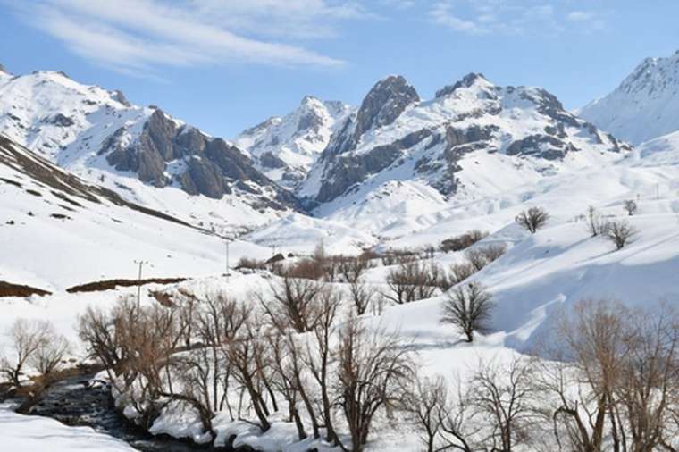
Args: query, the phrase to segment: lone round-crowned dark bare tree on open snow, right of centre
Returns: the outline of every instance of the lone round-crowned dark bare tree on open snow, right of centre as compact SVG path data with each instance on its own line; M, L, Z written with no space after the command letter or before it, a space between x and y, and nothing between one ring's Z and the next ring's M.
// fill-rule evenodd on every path
M441 323L450 323L462 331L467 342L474 340L474 331L489 331L494 309L492 296L481 283L470 282L448 292L441 309Z

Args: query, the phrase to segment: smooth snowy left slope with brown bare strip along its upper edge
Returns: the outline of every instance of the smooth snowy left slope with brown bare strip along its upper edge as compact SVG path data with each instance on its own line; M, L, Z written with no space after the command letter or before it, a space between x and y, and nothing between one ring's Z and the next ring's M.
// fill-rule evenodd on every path
M50 291L97 280L223 272L219 237L88 184L0 136L0 280ZM268 255L237 241L231 257Z

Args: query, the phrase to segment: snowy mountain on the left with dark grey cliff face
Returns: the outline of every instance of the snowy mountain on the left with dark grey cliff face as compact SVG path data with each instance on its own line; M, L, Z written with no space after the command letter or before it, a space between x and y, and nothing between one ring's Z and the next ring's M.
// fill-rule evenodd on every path
M184 218L254 226L298 206L231 143L62 72L0 74L0 133L123 197Z

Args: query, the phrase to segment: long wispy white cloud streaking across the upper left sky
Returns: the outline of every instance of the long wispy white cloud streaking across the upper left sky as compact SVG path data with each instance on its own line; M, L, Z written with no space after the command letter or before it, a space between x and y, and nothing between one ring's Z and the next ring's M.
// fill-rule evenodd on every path
M152 76L163 66L234 62L337 67L344 62L289 42L331 36L335 21L363 14L357 4L329 0L36 0L15 7L73 53Z

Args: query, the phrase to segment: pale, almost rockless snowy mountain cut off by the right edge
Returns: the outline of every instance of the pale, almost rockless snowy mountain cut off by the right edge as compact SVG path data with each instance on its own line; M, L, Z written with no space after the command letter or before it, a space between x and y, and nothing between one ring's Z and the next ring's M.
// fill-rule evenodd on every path
M634 145L679 130L679 51L646 58L619 87L579 114Z

